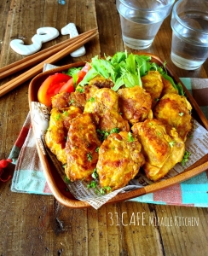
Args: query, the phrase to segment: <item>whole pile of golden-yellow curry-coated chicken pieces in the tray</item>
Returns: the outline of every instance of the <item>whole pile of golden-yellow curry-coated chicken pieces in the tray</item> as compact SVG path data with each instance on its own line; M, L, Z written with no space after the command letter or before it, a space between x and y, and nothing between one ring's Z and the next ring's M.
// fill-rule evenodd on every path
M148 178L157 181L182 160L183 140L191 127L189 102L158 72L149 72L142 82L146 89L138 85L115 92L110 89L111 81L97 77L89 85L78 85L71 94L53 97L53 108L58 109L53 110L52 120L60 141L53 141L48 133L49 148L67 163L66 176L72 182L90 181L97 168L101 187L113 191L129 183L141 166ZM163 97L154 101L159 96ZM57 120L55 113L62 116L69 106L78 109L78 116L75 114L70 121ZM134 143L128 141L130 125ZM115 128L120 132L110 134L101 143L96 130L111 133Z

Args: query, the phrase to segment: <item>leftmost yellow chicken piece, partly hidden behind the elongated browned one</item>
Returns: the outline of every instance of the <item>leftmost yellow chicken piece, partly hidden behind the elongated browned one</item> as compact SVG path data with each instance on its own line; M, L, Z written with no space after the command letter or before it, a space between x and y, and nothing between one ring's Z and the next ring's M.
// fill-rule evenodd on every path
M66 164L66 137L70 122L79 113L79 108L69 107L65 111L52 108L49 119L49 129L45 133L45 143L62 164Z

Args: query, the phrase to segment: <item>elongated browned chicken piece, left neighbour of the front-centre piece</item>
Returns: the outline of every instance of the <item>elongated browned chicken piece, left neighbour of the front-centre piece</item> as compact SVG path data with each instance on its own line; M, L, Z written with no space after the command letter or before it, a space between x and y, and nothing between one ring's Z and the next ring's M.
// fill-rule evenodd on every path
M95 120L91 113L82 113L72 119L67 141L66 176L72 181L91 180L97 160L97 148L101 142L96 134Z

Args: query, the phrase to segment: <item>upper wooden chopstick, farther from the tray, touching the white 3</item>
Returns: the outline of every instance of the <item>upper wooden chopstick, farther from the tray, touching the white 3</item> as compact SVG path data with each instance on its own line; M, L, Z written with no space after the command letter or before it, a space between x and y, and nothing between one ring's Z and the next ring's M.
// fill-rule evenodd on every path
M40 61L43 61L44 59L48 58L51 55L54 55L56 52L60 51L61 49L64 49L67 45L76 42L78 38L83 38L86 35L90 36L96 30L97 28L91 29L90 31L79 34L74 38L66 39L65 41L59 44L55 44L49 47L48 49L43 49L33 55L30 55L24 59L21 59L20 61L15 61L14 63L9 64L8 66L0 68L0 79L4 79L9 75L14 74L26 67L31 67L32 65L37 64Z

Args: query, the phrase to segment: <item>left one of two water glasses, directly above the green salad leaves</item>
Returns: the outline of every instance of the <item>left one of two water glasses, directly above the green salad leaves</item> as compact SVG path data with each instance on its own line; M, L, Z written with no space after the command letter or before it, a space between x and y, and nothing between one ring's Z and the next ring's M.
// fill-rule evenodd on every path
M147 49L159 27L170 15L175 0L117 0L124 44L132 49Z

